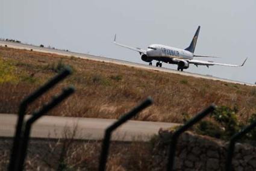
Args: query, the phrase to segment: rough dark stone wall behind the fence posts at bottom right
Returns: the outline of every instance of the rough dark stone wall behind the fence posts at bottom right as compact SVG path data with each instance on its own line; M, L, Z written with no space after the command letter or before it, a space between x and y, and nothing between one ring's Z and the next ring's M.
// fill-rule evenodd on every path
M167 148L172 132L160 130L154 142L153 158L157 170L164 170L167 163ZM208 136L184 132L178 141L175 170L225 170L228 143ZM234 170L256 170L256 148L236 144L233 156Z

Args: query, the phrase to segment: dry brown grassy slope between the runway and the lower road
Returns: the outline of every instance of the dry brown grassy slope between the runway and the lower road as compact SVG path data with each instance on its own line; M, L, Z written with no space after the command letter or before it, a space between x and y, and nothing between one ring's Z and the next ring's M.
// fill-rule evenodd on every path
M181 123L182 113L193 116L212 103L238 107L238 118L244 122L256 111L255 87L1 47L0 69L5 74L0 75L0 113L17 113L28 93L66 65L73 68L73 75L40 98L28 113L69 84L75 85L75 95L49 115L117 119L147 96L154 105L136 120Z

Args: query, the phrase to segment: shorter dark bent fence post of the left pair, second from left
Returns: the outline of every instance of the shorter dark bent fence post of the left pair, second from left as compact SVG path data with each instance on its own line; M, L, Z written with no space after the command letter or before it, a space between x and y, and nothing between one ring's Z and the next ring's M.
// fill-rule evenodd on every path
M27 155L28 141L30 139L30 130L33 123L37 119L42 117L43 114L47 113L49 110L60 104L60 102L62 102L64 99L70 96L74 91L75 89L73 87L64 89L61 95L53 98L52 101L49 102L49 104L43 105L43 107L39 111L34 112L33 116L31 116L30 119L28 119L28 121L25 123L25 130L22 136L22 144L20 146L20 152L18 153L19 156L17 158L17 161L19 163L17 165L17 170L23 170L23 163Z

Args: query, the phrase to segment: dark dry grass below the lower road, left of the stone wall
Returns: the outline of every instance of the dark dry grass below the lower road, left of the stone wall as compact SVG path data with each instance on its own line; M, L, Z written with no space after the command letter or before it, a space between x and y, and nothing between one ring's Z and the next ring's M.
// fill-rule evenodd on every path
M58 140L31 139L25 170L98 170L101 141L75 140L77 128L64 128ZM11 139L0 138L0 170L8 167L10 148ZM112 141L106 170L151 170L151 152L149 143Z

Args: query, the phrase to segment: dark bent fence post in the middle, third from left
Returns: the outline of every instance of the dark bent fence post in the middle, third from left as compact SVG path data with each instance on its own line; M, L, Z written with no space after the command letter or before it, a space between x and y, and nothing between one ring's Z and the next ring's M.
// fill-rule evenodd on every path
M132 117L136 116L137 113L148 107L149 105L152 104L152 99L147 98L142 104L139 106L135 107L133 110L130 112L124 114L119 120L113 123L113 125L110 125L106 130L105 130L105 135L104 135L104 140L102 141L102 149L101 149L101 157L99 159L99 170L105 170L105 166L107 163L107 157L108 157L108 149L110 146L110 138L111 138L111 133L118 128L120 125L125 123L127 120L131 119Z

